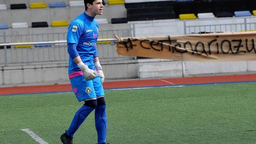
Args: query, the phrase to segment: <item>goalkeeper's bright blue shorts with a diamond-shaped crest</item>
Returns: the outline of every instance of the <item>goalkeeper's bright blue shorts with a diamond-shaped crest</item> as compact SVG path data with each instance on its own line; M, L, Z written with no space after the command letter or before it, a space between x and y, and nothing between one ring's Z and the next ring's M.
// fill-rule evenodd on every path
M83 75L79 75L71 78L70 83L79 102L105 95L99 74L89 81L86 81Z

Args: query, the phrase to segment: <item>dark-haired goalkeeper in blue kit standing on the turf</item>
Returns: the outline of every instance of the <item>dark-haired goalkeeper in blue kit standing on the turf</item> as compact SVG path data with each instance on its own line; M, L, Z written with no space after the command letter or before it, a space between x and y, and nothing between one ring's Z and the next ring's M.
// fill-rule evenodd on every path
M72 89L83 106L75 113L70 127L61 135L63 144L72 144L73 136L86 117L95 109L98 144L106 144L106 103L102 83L104 74L99 63L96 42L99 25L94 20L102 15L102 0L84 0L85 12L70 24L67 32L68 74Z

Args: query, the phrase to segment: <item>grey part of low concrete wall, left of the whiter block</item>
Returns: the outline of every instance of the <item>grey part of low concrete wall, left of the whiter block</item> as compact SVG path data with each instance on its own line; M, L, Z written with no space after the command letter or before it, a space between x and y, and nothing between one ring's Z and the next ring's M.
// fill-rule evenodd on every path
M136 60L101 61L106 79L138 77ZM69 81L68 62L8 65L0 67L0 84Z

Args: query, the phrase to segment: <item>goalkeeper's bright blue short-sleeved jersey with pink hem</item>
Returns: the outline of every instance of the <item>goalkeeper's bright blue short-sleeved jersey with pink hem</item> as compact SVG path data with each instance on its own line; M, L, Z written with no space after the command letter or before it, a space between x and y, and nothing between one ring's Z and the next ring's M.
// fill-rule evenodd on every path
M95 70L93 54L97 48L98 33L99 24L94 20L94 17L85 12L71 22L67 32L67 44L76 44L77 52L83 63L92 70ZM68 74L69 79L83 74L71 57L69 57Z

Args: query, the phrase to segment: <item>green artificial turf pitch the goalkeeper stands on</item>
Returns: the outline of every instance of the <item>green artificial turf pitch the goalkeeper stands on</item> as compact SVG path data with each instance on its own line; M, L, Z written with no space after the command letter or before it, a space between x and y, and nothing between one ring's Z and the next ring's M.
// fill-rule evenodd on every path
M255 144L256 83L108 90L110 144ZM73 93L0 96L0 141L36 144L30 129L49 144L61 143L83 102ZM75 144L97 143L94 111Z

